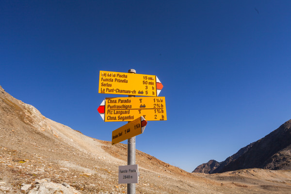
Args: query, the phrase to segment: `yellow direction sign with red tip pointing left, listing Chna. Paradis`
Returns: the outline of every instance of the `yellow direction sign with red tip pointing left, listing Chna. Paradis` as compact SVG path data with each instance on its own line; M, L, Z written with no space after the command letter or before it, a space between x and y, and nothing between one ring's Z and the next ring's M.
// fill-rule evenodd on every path
M97 110L105 122L167 120L165 97L107 97Z

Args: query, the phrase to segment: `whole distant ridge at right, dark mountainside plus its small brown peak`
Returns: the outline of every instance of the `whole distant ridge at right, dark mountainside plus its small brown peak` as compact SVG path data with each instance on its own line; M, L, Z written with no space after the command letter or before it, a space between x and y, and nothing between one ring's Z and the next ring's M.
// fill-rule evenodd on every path
M264 138L241 148L223 162L210 160L195 168L195 173L223 173L246 168L291 169L291 120Z

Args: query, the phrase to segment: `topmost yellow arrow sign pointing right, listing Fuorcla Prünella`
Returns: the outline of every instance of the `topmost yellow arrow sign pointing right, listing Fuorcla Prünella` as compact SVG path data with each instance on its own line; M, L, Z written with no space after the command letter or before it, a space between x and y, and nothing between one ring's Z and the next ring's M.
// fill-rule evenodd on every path
M98 93L157 97L162 90L157 76L100 71Z

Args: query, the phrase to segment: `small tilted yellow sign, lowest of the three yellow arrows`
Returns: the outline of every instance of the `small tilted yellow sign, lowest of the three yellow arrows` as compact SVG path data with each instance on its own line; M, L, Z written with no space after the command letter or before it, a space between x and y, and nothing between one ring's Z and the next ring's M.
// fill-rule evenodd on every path
M128 124L112 131L112 145L142 134L146 128L146 119L141 116Z

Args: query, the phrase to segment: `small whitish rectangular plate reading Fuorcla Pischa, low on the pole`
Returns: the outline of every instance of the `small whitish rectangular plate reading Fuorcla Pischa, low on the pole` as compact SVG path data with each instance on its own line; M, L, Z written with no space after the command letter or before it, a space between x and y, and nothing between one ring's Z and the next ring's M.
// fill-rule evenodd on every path
M138 164L118 167L118 184L138 183Z

